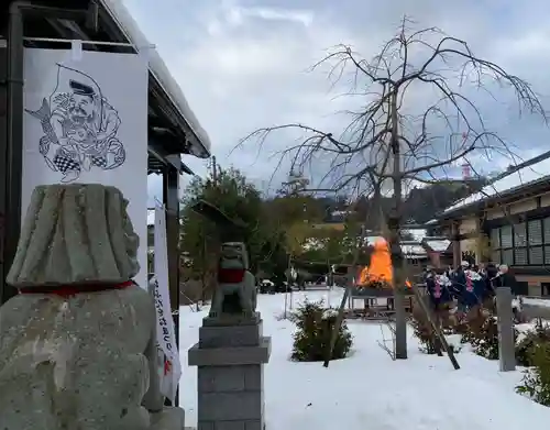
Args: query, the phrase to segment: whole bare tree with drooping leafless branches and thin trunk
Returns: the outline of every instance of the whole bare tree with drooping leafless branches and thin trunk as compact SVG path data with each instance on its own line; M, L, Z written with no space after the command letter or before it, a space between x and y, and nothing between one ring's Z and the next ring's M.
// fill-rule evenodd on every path
M241 144L255 140L263 147L274 132L295 130L301 139L279 153L293 166L330 159L320 183L336 190L371 194L393 191L387 218L395 271L396 357L406 359L404 311L404 256L399 246L402 196L410 181L430 183L446 175L446 166L474 156L491 158L510 154L510 146L485 126L472 93L496 99L514 96L519 113L529 112L547 121L544 109L528 82L487 59L474 55L469 44L436 27L413 30L403 19L395 36L371 60L350 46L339 45L317 69L330 66L329 77L351 87L344 93L361 109L349 110L350 122L340 134L307 124L290 123L254 131ZM419 102L410 101L421 96ZM420 111L418 112L418 106ZM413 108L417 108L416 111ZM322 185L319 185L320 187Z

